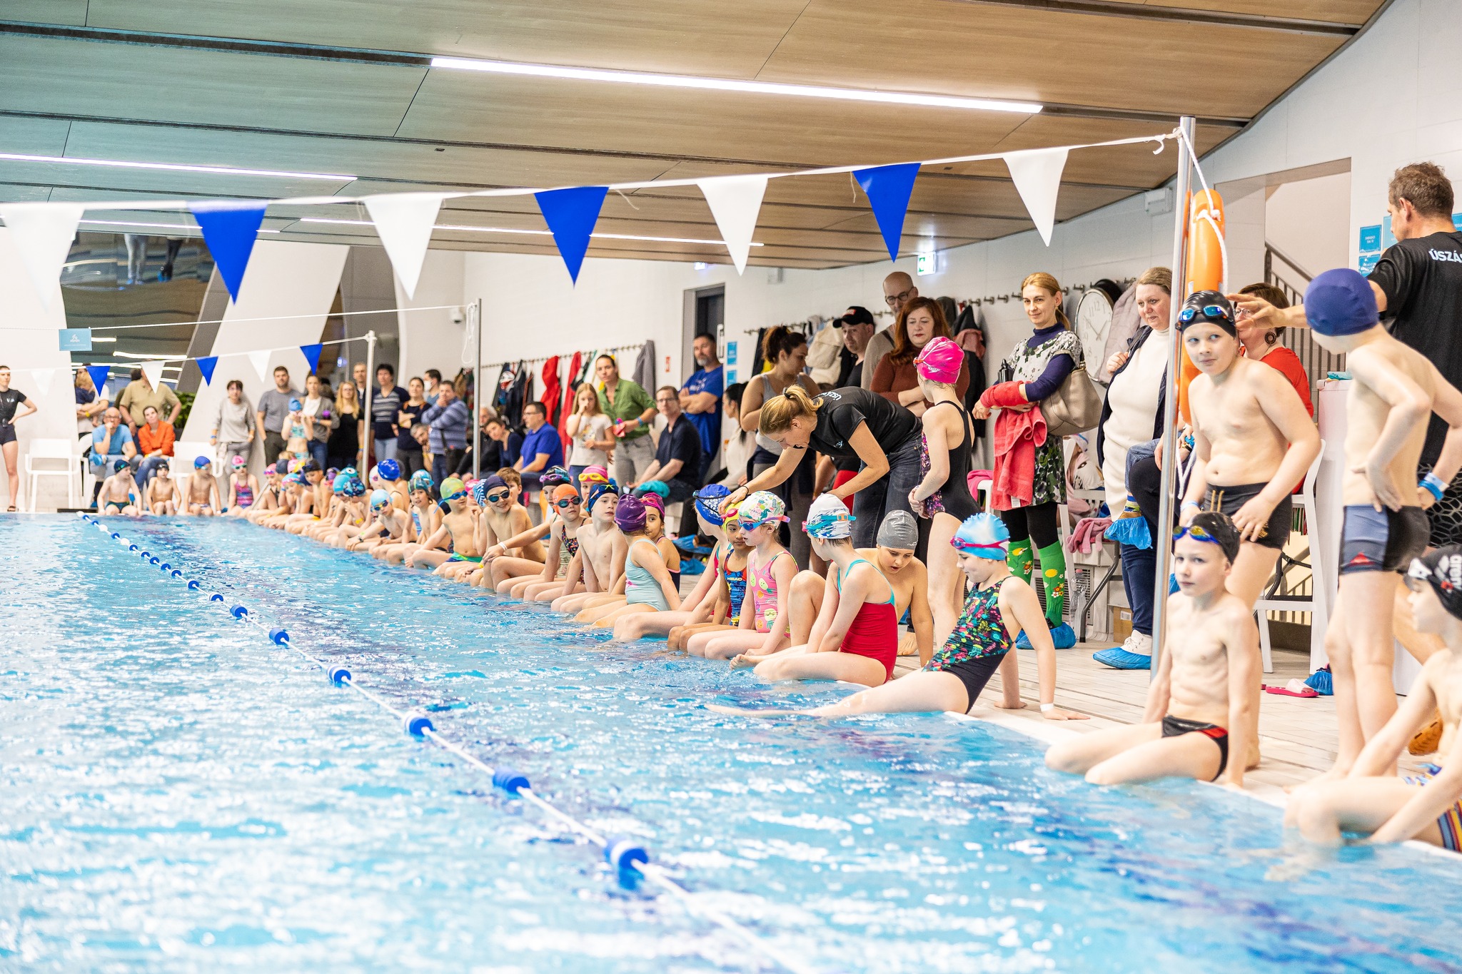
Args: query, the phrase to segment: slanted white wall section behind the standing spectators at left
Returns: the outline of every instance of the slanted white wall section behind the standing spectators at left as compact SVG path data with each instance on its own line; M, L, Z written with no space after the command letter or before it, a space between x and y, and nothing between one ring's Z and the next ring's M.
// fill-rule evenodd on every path
M310 369L297 346L320 340L348 253L348 247L335 244L294 244L278 239L254 242L249 270L244 272L244 280L238 288L238 301L230 302L224 323L218 326L218 337L213 339L211 355L219 356L213 381L197 390L193 410L178 440L208 442L218 416L218 404L227 396L225 390L232 378L243 381L244 397L253 404L259 403L260 393L273 388L270 372L276 365L288 368L289 381L304 391L304 377ZM284 350L269 355L269 365L260 378L246 352L268 348ZM326 348L322 359L333 355L336 348ZM354 358L355 349L351 355ZM262 450L254 450L250 469L256 473L262 467Z

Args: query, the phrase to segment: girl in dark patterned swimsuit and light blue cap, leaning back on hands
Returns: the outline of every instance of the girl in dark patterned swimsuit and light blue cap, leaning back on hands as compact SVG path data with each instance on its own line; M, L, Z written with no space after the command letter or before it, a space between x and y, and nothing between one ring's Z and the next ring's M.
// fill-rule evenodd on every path
M1041 716L1047 720L1086 720L1056 707L1056 648L1044 625L1041 602L1035 590L1023 580L1010 574L1006 553L1010 532L993 514L975 514L959 526L950 542L959 552L959 567L969 580L972 591L965 609L955 624L955 631L934 651L934 659L917 673L889 680L882 686L860 691L836 704L807 711L743 711L712 705L719 713L751 714L757 717L787 713L806 713L816 717L852 717L855 714L899 714L931 713L947 710L956 714L969 713L980 692L994 675L1001 670L1000 682L1006 708L1019 708L1019 685L1013 666L1010 645L1020 629L1035 632L1035 640L1050 648L1050 667L1041 663ZM1039 650L1039 645L1038 645ZM1047 673L1050 669L1050 673ZM1048 695L1050 694L1050 695Z

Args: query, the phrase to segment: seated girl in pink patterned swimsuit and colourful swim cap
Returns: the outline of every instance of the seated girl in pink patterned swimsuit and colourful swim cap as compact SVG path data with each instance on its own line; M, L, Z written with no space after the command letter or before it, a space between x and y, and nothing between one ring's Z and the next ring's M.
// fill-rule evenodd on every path
M734 632L699 632L686 643L692 656L728 660L743 653L770 654L787 647L788 613L782 593L791 593L797 562L776 540L776 529L787 520L782 498L768 491L747 496L737 508L746 543L751 548L746 562L746 596Z

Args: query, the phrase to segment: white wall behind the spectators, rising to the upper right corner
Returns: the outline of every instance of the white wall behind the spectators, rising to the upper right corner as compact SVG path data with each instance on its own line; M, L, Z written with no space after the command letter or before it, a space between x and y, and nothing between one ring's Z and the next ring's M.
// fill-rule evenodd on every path
M1345 260L1354 266L1358 229L1385 216L1386 184L1396 166L1433 159L1462 175L1459 50L1462 16L1456 0L1396 0L1355 44L1253 129L1206 158L1209 183L1349 158ZM1167 152L1173 153L1173 147ZM1263 219L1262 213L1238 209L1243 212L1235 218ZM1339 218L1326 213L1320 222L1330 216ZM1259 279L1262 244L1256 254L1237 254L1231 273L1235 280ZM1047 270L1063 283L1127 277L1171 263L1173 215L1149 216L1137 196L1057 225L1050 247L1032 231L944 251L942 257L942 273L917 279L925 295L1009 294L1034 270ZM686 374L680 342L687 288L725 282L727 331L746 339L738 334L744 329L827 315L848 304L879 311L883 276L895 266L914 272L912 258L905 258L898 264L787 270L784 283L768 283L766 270L759 267L749 267L738 279L732 267L719 264L697 272L692 264L589 258L577 288L572 288L557 257L468 254L465 261L463 296L484 299L487 361L649 337L656 343L659 367L671 356L671 368L668 372L661 368L658 380L677 383ZM987 308L985 323L991 345L1001 355L1025 334L1025 317L1016 302Z

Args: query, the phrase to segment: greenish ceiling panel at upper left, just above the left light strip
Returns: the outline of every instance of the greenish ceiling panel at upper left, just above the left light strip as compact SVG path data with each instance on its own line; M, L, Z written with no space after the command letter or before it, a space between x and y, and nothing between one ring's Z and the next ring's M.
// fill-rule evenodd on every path
M0 108L28 112L390 136L423 74L412 67L0 35Z

